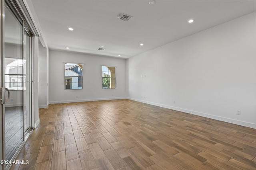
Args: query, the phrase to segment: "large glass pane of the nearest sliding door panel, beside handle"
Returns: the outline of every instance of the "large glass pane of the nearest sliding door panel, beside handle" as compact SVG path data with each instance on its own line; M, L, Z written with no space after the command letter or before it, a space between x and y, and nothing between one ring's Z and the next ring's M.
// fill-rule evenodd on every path
M4 104L6 160L10 160L23 138L23 26L9 6L5 6L4 87L10 100Z

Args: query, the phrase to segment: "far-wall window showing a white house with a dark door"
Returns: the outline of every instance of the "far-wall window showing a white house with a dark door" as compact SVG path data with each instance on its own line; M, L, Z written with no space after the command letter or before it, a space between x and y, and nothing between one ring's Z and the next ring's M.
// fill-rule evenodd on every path
M65 89L83 89L83 64L65 63Z

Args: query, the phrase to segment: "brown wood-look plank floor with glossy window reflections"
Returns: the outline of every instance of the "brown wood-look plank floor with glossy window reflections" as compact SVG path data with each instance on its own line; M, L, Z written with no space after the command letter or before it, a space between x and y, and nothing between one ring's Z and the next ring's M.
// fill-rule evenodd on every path
M252 170L256 129L134 102L40 109L13 170Z

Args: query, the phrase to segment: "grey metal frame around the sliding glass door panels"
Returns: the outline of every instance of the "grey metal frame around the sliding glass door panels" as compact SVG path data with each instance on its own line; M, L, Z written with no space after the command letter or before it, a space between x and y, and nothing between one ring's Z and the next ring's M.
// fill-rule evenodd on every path
M24 31L26 30L26 32L28 33L28 35L30 36L30 112L31 112L31 117L30 117L30 129L29 131L25 134L25 130L24 129L24 119L23 119L23 141L22 144L20 145L20 147L18 148L18 150L16 151L16 153L14 154L14 156L12 157L11 160L8 161L13 161L15 160L16 156L18 155L18 153L20 152L20 150L22 149L22 147L24 146L24 143L26 142L26 139L29 137L29 135L32 133L32 129L35 126L35 122L34 122L34 41L37 40L35 39L35 36L39 36L40 33L39 31L36 29L36 26L34 25L34 22L32 20L32 18L30 17L30 12L28 12L27 10L27 4L26 4L26 0L0 0L0 86L4 87L4 20L5 20L5 16L4 16L4 8L6 5L6 2L8 4L8 6L11 6L13 8L13 12L15 13L16 16L19 16L19 18L22 19L23 24L23 38L24 38ZM24 46L22 45L22 50L24 50ZM24 53L22 52L22 55L24 55ZM23 58L24 56L22 56ZM23 79L24 81L24 79ZM22 105L24 104L24 102L22 102ZM24 113L23 113L23 117L24 117ZM34 127L35 128L35 127ZM0 161L4 160L6 157L6 153L5 153L5 109L4 106L0 105ZM12 164L1 164L0 162L0 170L8 170L10 169L10 167L12 166Z

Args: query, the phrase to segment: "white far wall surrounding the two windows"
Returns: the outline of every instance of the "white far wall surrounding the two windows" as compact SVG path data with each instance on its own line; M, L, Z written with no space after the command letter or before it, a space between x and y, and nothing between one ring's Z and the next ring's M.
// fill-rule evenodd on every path
M64 63L83 66L83 89L64 90ZM102 89L101 65L116 66L116 89ZM66 51L49 51L50 104L125 98L126 60Z

